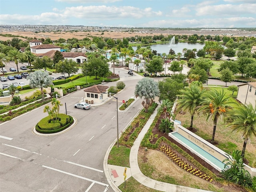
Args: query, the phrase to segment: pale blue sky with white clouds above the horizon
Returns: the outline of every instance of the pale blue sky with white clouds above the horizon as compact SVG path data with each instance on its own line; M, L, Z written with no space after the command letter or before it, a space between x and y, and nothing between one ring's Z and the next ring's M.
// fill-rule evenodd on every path
M0 25L256 27L256 0L0 0Z

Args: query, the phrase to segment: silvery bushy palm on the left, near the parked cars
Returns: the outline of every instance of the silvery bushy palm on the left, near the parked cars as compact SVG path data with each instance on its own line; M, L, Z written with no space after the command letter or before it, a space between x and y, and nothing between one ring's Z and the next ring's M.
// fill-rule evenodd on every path
M52 78L49 76L48 72L37 70L30 73L28 79L30 80L30 87L41 89L42 100L44 101L44 87L52 85Z

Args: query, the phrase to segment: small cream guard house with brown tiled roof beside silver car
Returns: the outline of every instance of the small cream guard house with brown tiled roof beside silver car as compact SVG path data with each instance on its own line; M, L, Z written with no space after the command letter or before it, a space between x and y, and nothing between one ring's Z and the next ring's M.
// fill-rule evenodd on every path
M94 85L84 89L84 100L94 101L95 103L101 103L108 98L108 86Z

